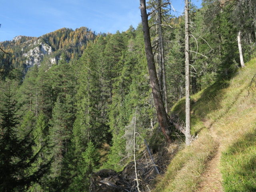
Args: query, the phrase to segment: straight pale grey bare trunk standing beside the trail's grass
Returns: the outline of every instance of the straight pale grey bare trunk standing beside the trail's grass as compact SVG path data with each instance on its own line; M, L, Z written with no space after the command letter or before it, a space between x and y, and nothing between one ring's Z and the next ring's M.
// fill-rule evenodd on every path
M190 74L189 74L189 26L188 0L185 0L185 88L186 88L186 145L191 142L190 134Z

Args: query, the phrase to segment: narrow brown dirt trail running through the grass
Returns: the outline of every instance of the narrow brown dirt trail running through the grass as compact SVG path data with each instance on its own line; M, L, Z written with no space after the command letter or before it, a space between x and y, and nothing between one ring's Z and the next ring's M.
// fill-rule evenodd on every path
M206 171L202 174L202 181L199 184L197 192L223 192L222 174L220 172L221 143L218 135L212 128L209 129L214 140L219 143L216 154L206 165Z

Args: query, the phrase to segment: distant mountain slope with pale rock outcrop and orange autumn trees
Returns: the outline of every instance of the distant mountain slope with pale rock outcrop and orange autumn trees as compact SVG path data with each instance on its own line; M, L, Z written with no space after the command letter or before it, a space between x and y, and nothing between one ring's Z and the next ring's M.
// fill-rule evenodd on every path
M50 60L51 64L57 64L62 53L66 54L68 61L80 58L86 43L95 37L95 32L87 27L76 30L62 28L38 38L17 36L12 41L1 42L1 48L11 54L9 62L12 67L26 74L28 68L40 66L44 57ZM2 60L1 68L4 67Z

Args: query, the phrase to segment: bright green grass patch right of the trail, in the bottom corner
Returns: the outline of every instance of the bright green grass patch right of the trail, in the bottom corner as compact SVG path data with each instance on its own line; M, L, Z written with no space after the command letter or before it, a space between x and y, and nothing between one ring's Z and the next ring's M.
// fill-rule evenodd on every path
M225 192L256 191L256 131L222 153L221 166Z

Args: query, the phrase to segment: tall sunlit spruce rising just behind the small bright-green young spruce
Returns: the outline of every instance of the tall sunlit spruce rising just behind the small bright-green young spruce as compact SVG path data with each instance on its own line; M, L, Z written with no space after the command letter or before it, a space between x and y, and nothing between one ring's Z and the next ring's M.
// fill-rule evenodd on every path
M83 133L83 143L92 140L98 144L106 139L106 116L102 111L102 102L105 99L101 94L102 81L100 79L100 63L97 58L97 47L88 44L83 56L80 58L80 71L78 76L78 91L76 95L78 114L77 122ZM98 134L101 132L101 134Z

